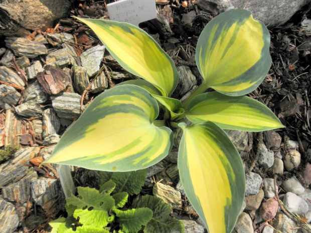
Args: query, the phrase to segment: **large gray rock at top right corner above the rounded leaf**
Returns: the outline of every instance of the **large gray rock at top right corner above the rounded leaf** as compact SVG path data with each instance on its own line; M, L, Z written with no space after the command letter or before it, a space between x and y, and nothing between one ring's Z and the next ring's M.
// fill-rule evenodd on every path
M253 13L254 19L262 21L268 27L275 27L286 23L309 0L284 0L281 3L273 0L198 0L199 7L204 8L208 3L217 4L221 11L230 9L247 9Z

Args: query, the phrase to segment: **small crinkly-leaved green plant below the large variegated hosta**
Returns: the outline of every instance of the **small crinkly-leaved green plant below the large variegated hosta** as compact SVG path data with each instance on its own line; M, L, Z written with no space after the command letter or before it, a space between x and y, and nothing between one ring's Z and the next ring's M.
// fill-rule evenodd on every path
M51 221L51 233L185 231L183 223L170 216L171 206L156 196L142 196L133 204L133 208L126 207L128 196L140 192L145 170L101 172L99 176L99 190L78 187L79 196L71 195L66 199L68 217Z

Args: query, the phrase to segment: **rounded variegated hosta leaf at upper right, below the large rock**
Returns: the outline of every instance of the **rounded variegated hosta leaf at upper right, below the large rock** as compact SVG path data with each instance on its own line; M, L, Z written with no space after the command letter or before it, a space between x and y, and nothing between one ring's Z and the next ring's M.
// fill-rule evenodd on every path
M202 85L230 96L253 91L271 66L269 45L266 26L254 20L250 11L220 14L198 40L196 62L205 80Z

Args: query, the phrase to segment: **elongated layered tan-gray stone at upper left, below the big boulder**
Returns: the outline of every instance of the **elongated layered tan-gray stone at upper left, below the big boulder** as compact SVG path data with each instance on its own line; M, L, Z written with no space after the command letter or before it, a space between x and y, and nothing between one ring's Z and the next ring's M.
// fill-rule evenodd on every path
M6 46L14 51L19 56L26 56L28 58L35 58L39 55L48 53L47 48L35 41L30 41L21 37L7 37Z

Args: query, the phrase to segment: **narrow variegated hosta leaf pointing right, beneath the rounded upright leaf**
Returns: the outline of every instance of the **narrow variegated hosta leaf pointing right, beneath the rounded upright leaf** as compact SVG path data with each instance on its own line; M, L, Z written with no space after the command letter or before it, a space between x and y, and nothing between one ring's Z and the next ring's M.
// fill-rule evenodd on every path
M258 132L284 127L274 113L257 100L218 92L196 96L186 115L193 123L213 121L222 129Z

